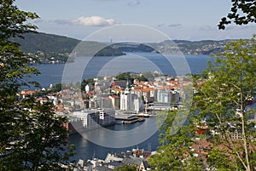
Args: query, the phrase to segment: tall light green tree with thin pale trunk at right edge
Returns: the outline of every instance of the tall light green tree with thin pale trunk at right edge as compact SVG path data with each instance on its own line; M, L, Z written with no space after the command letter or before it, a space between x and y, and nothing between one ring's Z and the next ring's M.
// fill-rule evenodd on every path
M196 108L214 130L207 136L215 147L207 159L210 167L223 170L229 163L234 169L251 171L255 166L255 123L250 120L253 110L246 108L248 98L256 92L255 55L255 36L230 43L224 54L209 64L207 79L197 87ZM225 162L216 160L220 156Z

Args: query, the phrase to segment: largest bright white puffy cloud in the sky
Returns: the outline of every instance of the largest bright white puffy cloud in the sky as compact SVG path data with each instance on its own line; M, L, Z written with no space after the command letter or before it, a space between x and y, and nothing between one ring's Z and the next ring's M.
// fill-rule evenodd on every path
M74 25L82 26L113 26L115 21L113 19L104 19L101 16L81 16L78 19L71 21Z

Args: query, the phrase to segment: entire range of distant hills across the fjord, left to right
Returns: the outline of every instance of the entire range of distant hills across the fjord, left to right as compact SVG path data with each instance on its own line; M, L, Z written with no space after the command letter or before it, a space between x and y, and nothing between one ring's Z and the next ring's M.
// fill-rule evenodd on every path
M76 55L93 55L97 52L96 56L123 55L123 52L212 54L223 52L225 45L230 43L230 40L166 40L161 43L114 43L107 46L104 43L81 42L78 39L41 32L26 34L24 37L25 39L15 38L15 42L20 43L24 52L40 54L40 59L44 60L62 61L66 61L71 52L76 52Z

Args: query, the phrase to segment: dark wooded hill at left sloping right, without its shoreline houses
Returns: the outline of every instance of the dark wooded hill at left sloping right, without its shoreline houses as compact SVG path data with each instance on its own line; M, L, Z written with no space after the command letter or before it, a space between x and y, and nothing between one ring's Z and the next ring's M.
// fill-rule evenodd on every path
M29 33L24 35L24 39L15 38L15 42L20 43L20 49L31 54L70 54L73 50L79 54L84 54L84 46L94 48L95 51L86 52L86 54L95 54L96 56L123 55L119 49L111 48L104 43L81 42L78 39L63 37L46 33ZM88 50L88 48L85 48Z

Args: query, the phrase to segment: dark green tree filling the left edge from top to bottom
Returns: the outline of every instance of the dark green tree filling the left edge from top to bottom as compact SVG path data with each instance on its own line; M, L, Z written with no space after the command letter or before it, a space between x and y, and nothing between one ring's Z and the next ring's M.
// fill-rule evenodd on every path
M38 15L21 11L14 2L0 1L0 170L60 170L72 154L64 152L67 118L56 116L49 103L17 95L21 86L31 85L23 77L39 72L27 66L30 58L11 38L34 32L36 26L27 20Z

